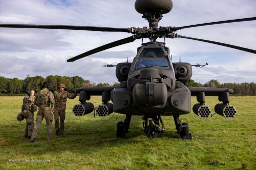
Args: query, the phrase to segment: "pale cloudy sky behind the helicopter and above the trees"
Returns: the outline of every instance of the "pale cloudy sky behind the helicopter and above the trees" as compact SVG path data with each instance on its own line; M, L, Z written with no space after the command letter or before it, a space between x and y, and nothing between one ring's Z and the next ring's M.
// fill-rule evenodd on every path
M0 0L1 24L49 24L99 27L144 27L148 22L134 8L135 0ZM255 0L173 0L173 10L159 26L186 26L256 17ZM256 49L256 21L188 28L178 34ZM73 63L67 59L131 36L127 33L0 28L0 76L80 76L95 83L117 82L115 68L133 61L141 39L96 53ZM144 39L144 42L147 40ZM158 39L158 41L164 41ZM193 67L192 79L205 83L256 82L256 54L189 39L167 39L173 62L209 64Z

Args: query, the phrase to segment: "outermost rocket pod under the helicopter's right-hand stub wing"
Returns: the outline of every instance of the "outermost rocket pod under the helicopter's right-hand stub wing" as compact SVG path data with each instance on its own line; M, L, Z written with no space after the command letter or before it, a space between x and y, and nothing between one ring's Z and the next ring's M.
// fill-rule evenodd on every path
M216 104L214 107L215 112L218 115L224 116L226 118L234 118L236 116L236 108L228 104Z

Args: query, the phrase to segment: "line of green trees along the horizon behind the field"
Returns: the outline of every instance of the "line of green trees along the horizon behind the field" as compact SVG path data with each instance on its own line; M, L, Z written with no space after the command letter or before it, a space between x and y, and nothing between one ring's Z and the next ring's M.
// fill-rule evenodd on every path
M55 91L59 89L59 84L65 84L65 90L74 93L76 88L80 87L106 87L106 86L120 86L120 83L92 83L89 80L84 80L79 76L41 76L27 77L24 80L18 78L5 78L0 76L0 94L24 94L29 89L34 89L36 92L41 89L42 83L45 81L50 83L50 90ZM204 84L197 83L190 80L188 86L190 87L226 87L234 90L234 95L256 95L256 84L251 83L220 83L218 80L210 80Z

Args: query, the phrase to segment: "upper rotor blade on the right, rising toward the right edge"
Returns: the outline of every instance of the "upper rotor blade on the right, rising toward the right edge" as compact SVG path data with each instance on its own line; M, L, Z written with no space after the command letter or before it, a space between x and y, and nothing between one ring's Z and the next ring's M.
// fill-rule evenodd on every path
M195 24L195 25L188 25L183 27L174 27L171 28L171 31L177 31L184 28L191 28L191 27L200 27L205 25L215 25L215 24L225 24L225 23L233 23L233 22L243 22L243 21L254 21L256 20L256 17L252 18L242 18L242 19L236 19L236 20L226 20L226 21L218 21L218 22L209 22L209 23L203 23L203 24Z

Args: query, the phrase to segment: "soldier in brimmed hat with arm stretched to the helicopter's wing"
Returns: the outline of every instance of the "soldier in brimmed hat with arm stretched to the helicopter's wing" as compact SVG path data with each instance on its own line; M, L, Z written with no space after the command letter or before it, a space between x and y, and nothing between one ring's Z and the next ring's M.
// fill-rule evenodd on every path
M54 121L55 121L55 135L63 135L64 131L64 120L66 117L66 103L67 98L74 99L77 95L75 92L71 95L69 92L65 91L66 88L65 84L59 85L59 90L53 93L55 99L54 105ZM60 117L60 126L59 126L59 117Z

